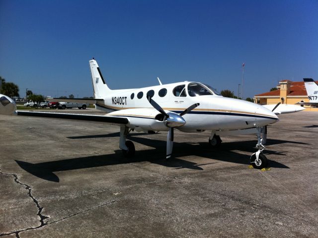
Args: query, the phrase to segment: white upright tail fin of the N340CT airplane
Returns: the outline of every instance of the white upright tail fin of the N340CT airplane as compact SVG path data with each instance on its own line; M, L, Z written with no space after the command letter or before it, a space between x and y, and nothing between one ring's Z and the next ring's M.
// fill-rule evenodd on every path
M89 67L90 67L90 73L91 73L91 80L93 83L93 89L94 89L94 98L103 98L108 93L111 92L111 90L108 88L100 70L98 67L98 64L94 58L89 61Z

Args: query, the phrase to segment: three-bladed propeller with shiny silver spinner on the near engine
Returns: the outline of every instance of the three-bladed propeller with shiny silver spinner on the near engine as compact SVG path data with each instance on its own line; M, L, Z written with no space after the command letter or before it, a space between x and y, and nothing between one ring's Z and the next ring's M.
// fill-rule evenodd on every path
M172 148L173 148L173 128L177 126L184 125L186 121L182 118L183 115L189 113L196 107L198 107L200 104L196 103L188 107L186 110L184 110L180 115L176 113L166 113L164 110L157 104L150 96L147 96L147 99L149 103L164 116L163 122L164 124L169 127L168 134L167 134L167 146L166 146L166 158L171 157Z

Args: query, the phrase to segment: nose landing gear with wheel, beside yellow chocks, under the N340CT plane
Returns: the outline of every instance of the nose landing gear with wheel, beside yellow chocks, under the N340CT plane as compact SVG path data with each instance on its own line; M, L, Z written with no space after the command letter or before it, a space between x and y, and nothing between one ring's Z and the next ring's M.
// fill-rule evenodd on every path
M262 138L260 138L260 135L262 134ZM265 146L263 144L266 143L266 135L267 135L267 128L266 126L263 127L257 127L257 144L256 148L258 148L257 152L253 153L250 156L250 163L255 169L262 169L267 167L267 158L262 153L265 149Z

